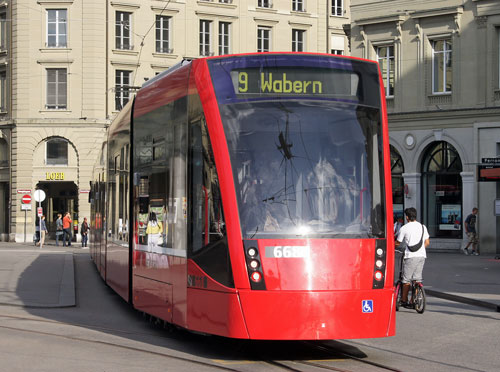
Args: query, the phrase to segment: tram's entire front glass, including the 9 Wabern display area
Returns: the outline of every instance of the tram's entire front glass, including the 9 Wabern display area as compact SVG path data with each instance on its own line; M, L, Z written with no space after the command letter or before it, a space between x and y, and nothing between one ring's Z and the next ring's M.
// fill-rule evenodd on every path
M307 54L208 63L244 238L385 236L375 64Z

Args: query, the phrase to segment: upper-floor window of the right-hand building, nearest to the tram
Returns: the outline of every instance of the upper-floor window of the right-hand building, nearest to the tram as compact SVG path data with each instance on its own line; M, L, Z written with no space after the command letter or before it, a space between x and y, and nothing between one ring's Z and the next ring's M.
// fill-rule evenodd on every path
M451 40L433 40L432 93L450 93L452 77Z

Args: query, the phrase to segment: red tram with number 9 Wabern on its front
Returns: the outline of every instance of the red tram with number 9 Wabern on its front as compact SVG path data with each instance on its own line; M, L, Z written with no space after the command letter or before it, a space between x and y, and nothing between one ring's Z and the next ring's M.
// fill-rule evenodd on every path
M378 65L258 53L183 61L111 124L91 255L136 309L226 337L395 333Z

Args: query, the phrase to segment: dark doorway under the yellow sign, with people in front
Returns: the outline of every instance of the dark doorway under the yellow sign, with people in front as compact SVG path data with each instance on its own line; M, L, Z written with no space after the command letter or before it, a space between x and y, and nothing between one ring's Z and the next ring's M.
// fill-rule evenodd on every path
M45 191L46 197L42 202L42 208L49 230L49 239L55 239L58 213L64 215L70 212L73 223L78 224L78 186L74 182L39 182L36 188ZM73 240L75 240L75 234L73 234Z

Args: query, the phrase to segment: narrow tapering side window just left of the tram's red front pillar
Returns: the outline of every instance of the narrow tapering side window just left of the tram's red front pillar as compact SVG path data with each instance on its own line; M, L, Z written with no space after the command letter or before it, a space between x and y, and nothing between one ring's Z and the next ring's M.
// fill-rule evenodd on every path
M190 128L191 246L193 253L225 237L225 222L215 160L204 118Z

